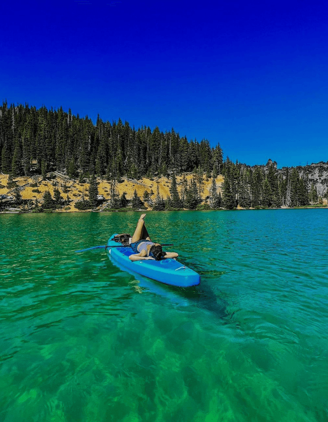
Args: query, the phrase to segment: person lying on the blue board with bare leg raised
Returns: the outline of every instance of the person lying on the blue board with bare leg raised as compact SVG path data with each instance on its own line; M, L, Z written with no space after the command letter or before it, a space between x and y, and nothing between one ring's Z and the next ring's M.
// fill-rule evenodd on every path
M137 227L131 239L131 247L135 252L134 255L130 255L131 261L141 261L144 259L155 259L159 261L161 258L176 258L178 254L176 252L165 252L162 250L162 246L159 243L154 243L149 237L149 233L145 226L146 214L142 214L139 218Z

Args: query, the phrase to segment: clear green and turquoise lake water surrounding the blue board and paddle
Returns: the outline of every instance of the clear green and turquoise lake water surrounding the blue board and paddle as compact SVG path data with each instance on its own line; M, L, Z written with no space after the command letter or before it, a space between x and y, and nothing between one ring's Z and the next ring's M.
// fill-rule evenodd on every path
M326 421L328 209L149 213L189 289L74 254L137 219L0 216L0 421Z

